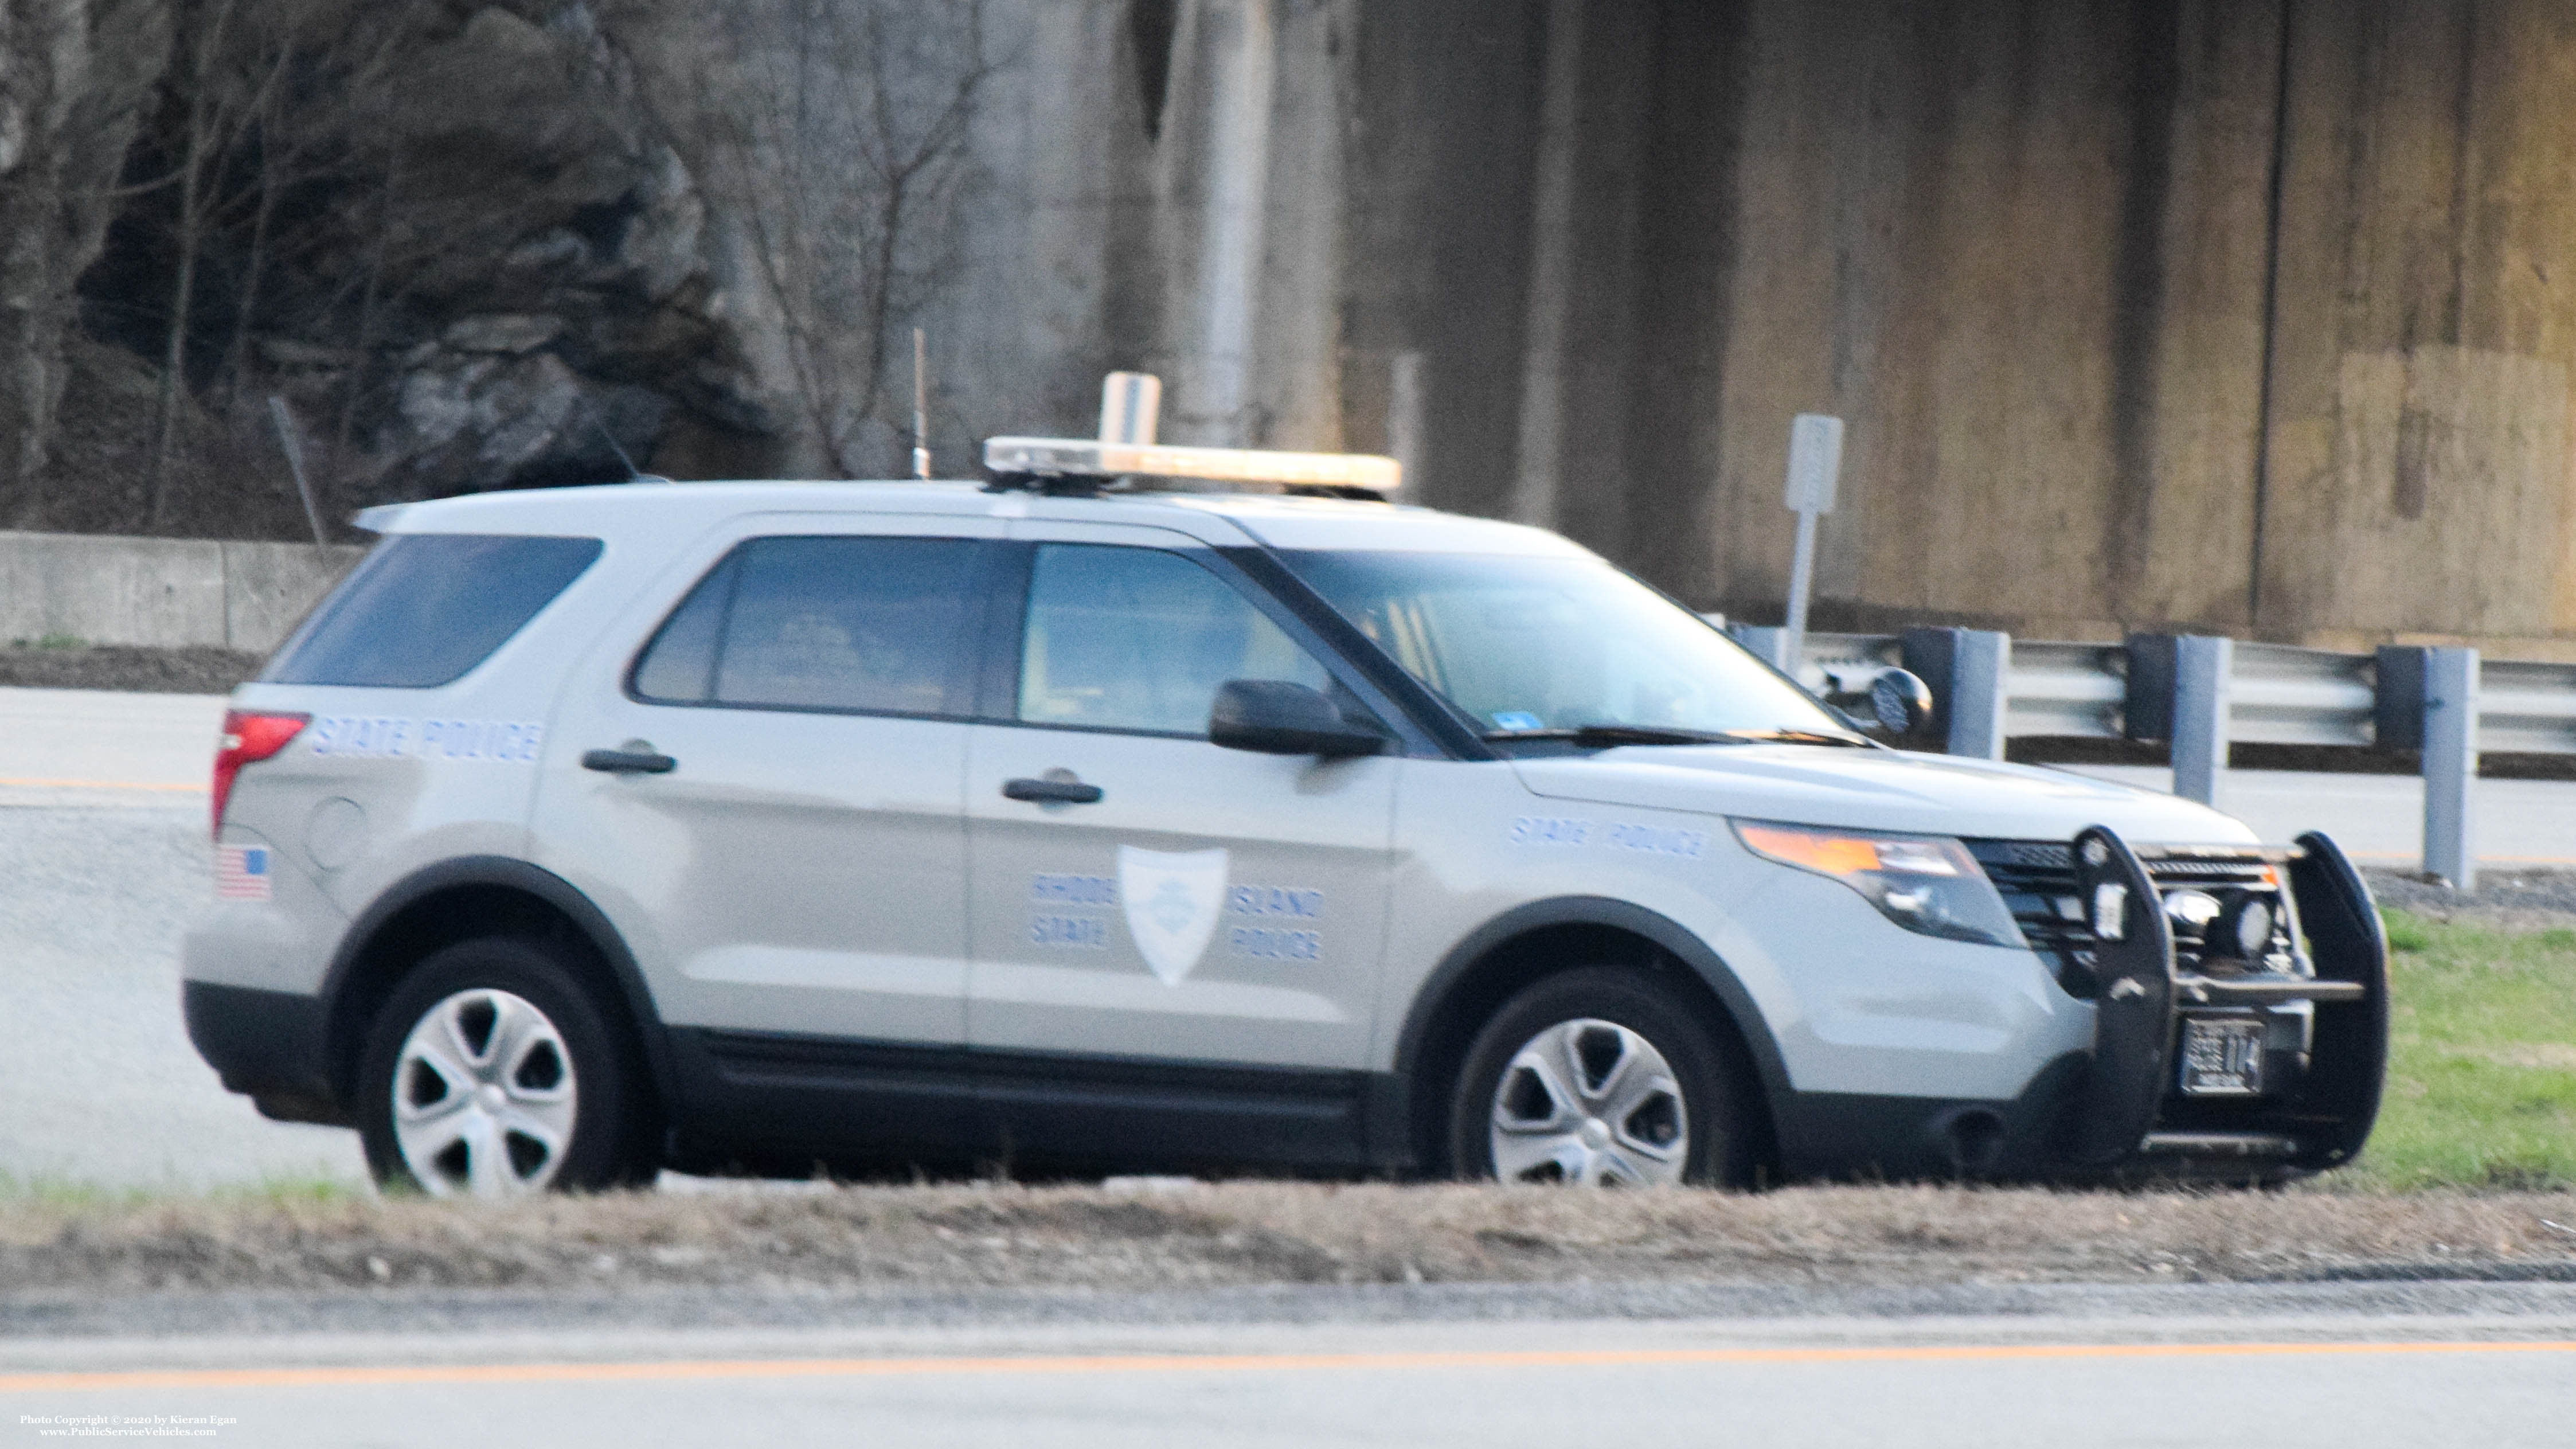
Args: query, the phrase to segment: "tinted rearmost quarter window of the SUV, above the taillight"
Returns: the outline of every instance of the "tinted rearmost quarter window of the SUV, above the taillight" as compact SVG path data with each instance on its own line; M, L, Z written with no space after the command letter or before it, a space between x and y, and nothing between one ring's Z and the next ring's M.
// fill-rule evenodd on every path
M492 657L600 557L598 539L399 534L268 660L268 683L435 688Z

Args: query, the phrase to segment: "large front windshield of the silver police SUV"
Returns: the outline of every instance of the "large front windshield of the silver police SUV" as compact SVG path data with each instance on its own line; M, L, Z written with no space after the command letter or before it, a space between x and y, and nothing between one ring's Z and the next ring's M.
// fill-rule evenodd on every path
M1734 639L1600 559L1417 552L1283 559L1489 737L1628 727L1855 740Z

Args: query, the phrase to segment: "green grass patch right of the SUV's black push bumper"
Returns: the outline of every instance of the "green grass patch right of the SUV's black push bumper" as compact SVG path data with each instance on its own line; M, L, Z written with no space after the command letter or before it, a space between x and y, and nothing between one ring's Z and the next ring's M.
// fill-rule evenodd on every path
M2576 1186L2576 931L2385 923L2388 1096L2362 1163L2329 1181Z

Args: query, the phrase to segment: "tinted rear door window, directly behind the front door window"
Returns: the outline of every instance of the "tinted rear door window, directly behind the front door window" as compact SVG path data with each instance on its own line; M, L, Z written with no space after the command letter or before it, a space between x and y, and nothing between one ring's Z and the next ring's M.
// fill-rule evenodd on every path
M680 601L629 686L652 704L963 714L971 539L750 539Z

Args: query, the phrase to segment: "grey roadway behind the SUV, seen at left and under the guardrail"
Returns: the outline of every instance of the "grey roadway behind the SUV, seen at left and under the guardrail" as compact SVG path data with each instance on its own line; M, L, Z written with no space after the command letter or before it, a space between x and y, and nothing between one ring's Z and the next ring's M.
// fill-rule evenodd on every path
M224 701L0 688L0 1173L108 1186L361 1176L355 1137L260 1119L196 1060L178 936L206 900ZM2161 786L2164 771L2094 771ZM2409 864L2419 781L2241 771L2267 838ZM2576 864L2576 784L2481 781L2496 864Z

